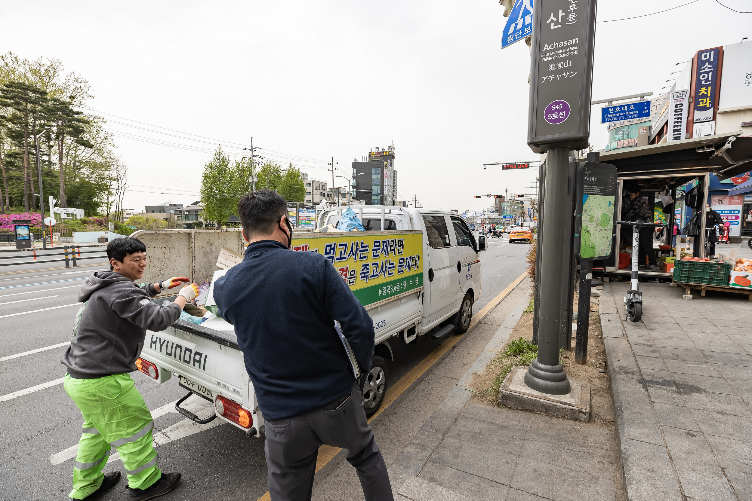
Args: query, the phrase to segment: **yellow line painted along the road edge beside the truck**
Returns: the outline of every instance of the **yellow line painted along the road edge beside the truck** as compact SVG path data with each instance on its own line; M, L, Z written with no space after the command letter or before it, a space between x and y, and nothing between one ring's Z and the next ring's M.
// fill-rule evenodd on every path
M472 321L470 322L470 327L468 327L468 330L472 329L473 325L481 321L481 318L487 315L487 313L490 312L496 305L501 303L502 300L507 297L509 293L514 290L514 288L517 287L520 282L523 281L523 279L525 279L526 275L527 272L518 276L517 279L514 280L514 282L511 282L511 284L509 284L507 288L501 291L498 296L494 297L493 300L491 300L486 306L481 309L481 311L475 313L475 315L473 315L472 317ZM379 407L378 411L376 411L376 413L372 415L371 418L368 418L368 423L377 418L378 415L381 414L381 412L387 410L387 407L389 407L395 400L397 400L400 395L405 393L405 390L410 388L410 386L418 378L420 378L420 376L423 376L423 373L425 373L426 370L429 370L429 368L435 363L435 361L441 358L444 353L448 352L460 339L462 339L462 334L453 334L452 337L448 338L446 341L444 341L444 343L441 343L441 345L438 346L437 349L431 352L429 356L423 358L423 360L420 361L420 363L415 367L413 367L409 373L405 374L405 376L402 376L402 378L399 379L398 382L387 389L387 394L384 395L384 401L381 403L381 407ZM316 471L318 472L320 469L326 466L326 463L329 463L329 461L332 460L332 457L335 457L335 455L337 455L337 453L341 450L341 448L332 447L331 445L322 445L319 448L319 454L316 459ZM259 497L258 501L271 501L271 497L269 496L268 491L263 496Z

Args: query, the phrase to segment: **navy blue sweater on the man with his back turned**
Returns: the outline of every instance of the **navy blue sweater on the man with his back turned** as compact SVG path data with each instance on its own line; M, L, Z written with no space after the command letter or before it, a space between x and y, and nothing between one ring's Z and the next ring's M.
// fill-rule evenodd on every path
M352 388L335 320L361 369L371 370L371 317L323 255L274 240L251 243L243 261L217 279L214 300L235 326L265 418L317 409Z

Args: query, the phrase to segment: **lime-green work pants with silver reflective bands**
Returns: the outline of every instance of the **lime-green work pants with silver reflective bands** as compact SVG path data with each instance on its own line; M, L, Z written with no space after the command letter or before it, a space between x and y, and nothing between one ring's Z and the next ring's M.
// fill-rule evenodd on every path
M73 490L68 496L83 499L102 485L102 473L117 449L128 474L129 487L146 489L159 480L159 456L152 445L154 421L129 374L98 379L75 379L65 374L65 393L83 415L83 433L73 466Z

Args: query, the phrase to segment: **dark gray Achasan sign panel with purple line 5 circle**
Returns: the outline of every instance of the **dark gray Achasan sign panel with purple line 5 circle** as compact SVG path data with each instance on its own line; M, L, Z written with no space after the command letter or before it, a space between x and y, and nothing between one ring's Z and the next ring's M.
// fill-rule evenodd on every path
M596 0L535 0L528 140L541 153L551 146L588 146Z

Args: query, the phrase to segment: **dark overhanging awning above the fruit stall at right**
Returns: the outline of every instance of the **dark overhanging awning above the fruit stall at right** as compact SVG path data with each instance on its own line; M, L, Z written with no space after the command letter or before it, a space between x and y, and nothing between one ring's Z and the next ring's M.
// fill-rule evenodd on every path
M752 170L752 137L741 131L601 153L600 161L616 165L620 176L713 172L721 180ZM586 157L580 157L585 161Z

